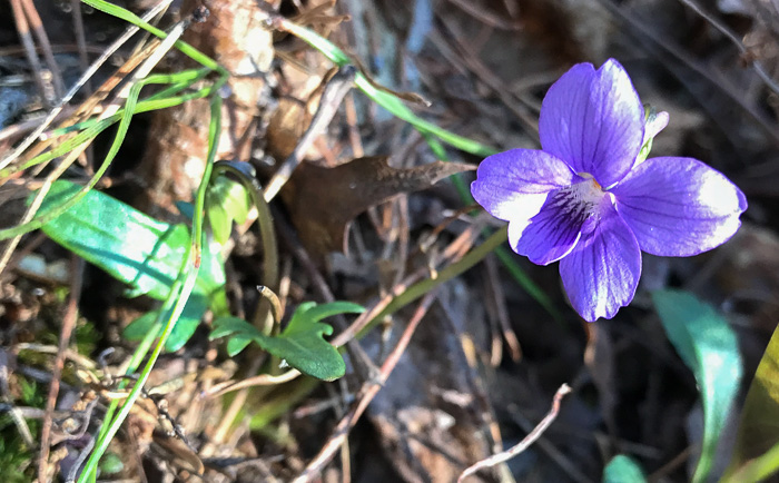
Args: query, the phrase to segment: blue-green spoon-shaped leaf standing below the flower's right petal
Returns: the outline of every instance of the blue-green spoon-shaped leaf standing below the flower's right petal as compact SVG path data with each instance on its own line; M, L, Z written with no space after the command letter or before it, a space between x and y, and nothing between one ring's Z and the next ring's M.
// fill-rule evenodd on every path
M659 290L652 300L668 338L696 376L703 402L703 443L692 477L706 479L717 441L741 381L741 355L736 334L713 307L692 294Z

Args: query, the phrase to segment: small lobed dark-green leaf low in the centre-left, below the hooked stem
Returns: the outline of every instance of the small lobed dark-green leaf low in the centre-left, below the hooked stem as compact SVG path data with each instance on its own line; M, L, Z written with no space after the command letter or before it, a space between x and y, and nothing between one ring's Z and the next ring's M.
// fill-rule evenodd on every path
M333 327L319 321L337 314L362 312L365 312L364 307L351 302L323 305L306 302L298 306L287 327L277 336L265 335L238 317L220 317L214 321L210 338L229 337L227 352L230 356L254 341L265 351L285 359L290 367L319 379L333 381L344 375L346 366L338 351L324 338L333 334Z

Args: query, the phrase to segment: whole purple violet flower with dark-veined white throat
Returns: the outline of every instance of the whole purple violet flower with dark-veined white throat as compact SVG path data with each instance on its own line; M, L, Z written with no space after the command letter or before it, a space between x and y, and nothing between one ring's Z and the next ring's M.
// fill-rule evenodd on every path
M490 156L471 185L509 241L538 265L560 260L573 308L611 318L635 294L641 250L691 256L727 241L747 198L721 172L692 158L645 159L668 122L650 116L622 66L578 63L541 106L543 150ZM645 160L644 160L645 159Z

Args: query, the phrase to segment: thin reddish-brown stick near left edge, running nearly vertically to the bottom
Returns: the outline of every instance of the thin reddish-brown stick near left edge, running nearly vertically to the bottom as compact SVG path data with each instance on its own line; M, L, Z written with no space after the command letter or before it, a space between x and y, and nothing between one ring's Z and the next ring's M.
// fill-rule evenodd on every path
M57 347L57 358L55 359L55 367L51 372L51 383L49 384L49 398L46 402L46 416L43 416L43 424L40 430L40 455L38 457L38 482L46 483L46 465L49 462L49 443L51 438L51 417L55 413L55 406L57 405L57 395L59 394L59 383L62 376L62 367L65 367L65 358L70 344L70 335L73 333L73 327L76 327L76 319L78 318L78 300L81 298L81 276L83 275L85 262L82 258L76 255L71 256L71 280L70 280L70 296L68 297L68 305L65 308L65 315L62 316L62 329L59 335L59 345Z

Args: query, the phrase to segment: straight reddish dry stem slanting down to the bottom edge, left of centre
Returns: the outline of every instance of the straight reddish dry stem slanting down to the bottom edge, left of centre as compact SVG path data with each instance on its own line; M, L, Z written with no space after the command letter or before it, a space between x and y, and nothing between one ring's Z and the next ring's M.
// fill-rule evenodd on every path
M317 454L316 457L308 463L308 466L306 466L304 472L294 480L294 483L305 483L312 481L319 473L322 473L325 465L333 459L333 455L342 446L348 436L349 431L357 423L357 420L359 420L359 416L363 415L368 404L371 404L373 398L384 386L384 383L389 378L389 375L408 346L414 331L416 331L416 327L420 326L420 323L427 313L431 304L433 304L436 295L437 289L425 294L424 298L416 308L416 312L414 312L411 321L408 321L408 325L406 326L405 331L403 331L403 335L401 335L401 339L397 342L397 345L395 348L393 348L392 353L389 353L386 361L384 361L384 364L382 364L382 368L379 369L377 377L373 381L366 382L363 385L362 390L359 391L361 397L357 404L355 404L348 414L338 422L333 435L319 451L319 454Z

